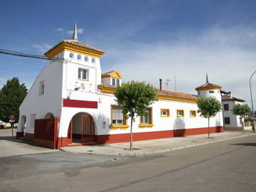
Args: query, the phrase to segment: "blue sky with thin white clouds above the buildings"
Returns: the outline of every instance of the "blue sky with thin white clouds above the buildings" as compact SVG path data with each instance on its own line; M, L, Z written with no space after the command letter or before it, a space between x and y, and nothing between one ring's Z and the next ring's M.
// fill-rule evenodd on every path
M102 73L116 69L124 80L155 86L159 78L169 79L171 90L176 76L177 90L193 94L208 73L210 82L250 100L249 78L256 70L255 10L256 1L246 0L3 1L0 48L43 55L72 38L77 23L79 41L106 51ZM47 64L0 58L0 87L14 76L30 87Z

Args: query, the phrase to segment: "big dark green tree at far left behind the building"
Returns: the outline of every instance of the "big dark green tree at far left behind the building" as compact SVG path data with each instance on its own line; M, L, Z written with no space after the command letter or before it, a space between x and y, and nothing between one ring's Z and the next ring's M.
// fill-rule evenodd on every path
M7 80L6 85L0 90L0 119L9 122L9 115L14 114L15 122L18 122L18 107L27 94L27 88L20 85L18 78Z

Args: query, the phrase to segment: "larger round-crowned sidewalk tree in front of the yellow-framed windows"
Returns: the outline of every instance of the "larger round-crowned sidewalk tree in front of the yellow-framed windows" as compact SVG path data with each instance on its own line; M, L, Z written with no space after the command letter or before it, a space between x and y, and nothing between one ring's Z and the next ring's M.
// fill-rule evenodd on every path
M156 90L150 84L132 81L117 87L114 96L117 97L117 104L122 106L126 118L131 118L130 150L132 150L132 122L135 116L144 115L146 107L158 100Z

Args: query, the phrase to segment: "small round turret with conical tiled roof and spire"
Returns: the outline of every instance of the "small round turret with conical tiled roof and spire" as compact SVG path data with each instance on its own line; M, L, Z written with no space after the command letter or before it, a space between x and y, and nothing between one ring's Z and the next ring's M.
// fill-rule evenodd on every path
M198 97L215 97L221 102L220 85L210 83L208 80L208 74L206 73L206 83L196 87Z

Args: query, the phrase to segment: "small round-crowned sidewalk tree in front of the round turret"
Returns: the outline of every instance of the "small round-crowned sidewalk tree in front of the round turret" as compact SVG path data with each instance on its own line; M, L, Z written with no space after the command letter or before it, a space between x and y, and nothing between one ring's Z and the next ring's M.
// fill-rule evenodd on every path
M210 138L210 117L221 110L221 103L215 97L199 97L197 105L203 117L208 118L208 138Z

